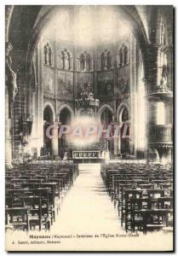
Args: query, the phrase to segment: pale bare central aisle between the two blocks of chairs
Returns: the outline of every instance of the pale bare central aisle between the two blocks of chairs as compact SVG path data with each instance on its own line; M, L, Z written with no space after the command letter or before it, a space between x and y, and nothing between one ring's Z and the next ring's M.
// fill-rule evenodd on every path
M79 176L66 195L57 218L59 221L57 219L57 224L51 227L51 231L55 228L60 233L72 234L116 234L121 231L118 212L100 177L100 164L79 165Z

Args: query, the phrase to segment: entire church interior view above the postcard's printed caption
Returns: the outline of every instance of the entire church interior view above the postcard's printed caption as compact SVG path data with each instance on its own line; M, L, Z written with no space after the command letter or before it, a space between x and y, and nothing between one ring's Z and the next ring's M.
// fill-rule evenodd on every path
M93 216L100 232L172 235L172 7L9 5L5 18L6 230Z

